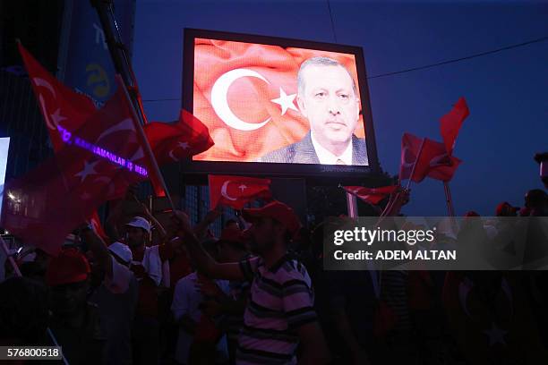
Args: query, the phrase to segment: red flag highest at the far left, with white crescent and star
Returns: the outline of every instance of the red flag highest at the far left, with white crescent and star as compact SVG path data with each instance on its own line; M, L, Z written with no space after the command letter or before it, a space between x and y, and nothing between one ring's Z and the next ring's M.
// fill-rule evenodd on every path
M95 113L96 108L90 98L74 92L47 72L21 43L18 43L18 47L46 121L49 137L57 151L64 146L63 132L59 127L67 132L78 130ZM66 132L64 136L67 136Z

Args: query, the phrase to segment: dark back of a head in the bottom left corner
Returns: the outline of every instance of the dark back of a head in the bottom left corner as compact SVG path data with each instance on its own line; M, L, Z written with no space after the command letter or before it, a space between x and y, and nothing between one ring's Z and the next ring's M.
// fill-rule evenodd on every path
M41 344L49 317L47 287L16 276L0 284L0 344Z

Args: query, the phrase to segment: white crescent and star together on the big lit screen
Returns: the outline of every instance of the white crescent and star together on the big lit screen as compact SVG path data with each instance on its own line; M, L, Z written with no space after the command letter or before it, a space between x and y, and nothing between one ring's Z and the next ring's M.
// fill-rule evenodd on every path
M242 77L254 77L270 85L270 81L266 80L259 72L242 68L231 70L223 73L213 84L213 88L211 88L211 106L213 106L213 110L215 110L218 117L229 127L238 131L249 132L263 127L269 123L272 118L268 118L261 123L247 123L238 118L230 109L227 98L228 88L230 88L230 85L232 85L234 81ZM279 98L275 98L270 101L278 104L281 107L281 115L285 115L287 109L298 111L294 104L295 97L296 94L287 95L286 92L280 87Z

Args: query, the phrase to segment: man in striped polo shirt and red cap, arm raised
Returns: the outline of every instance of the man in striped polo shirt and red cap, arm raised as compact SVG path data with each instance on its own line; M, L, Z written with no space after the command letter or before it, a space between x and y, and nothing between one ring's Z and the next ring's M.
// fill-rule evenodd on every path
M313 288L304 266L287 253L287 242L300 227L292 208L273 201L262 208L244 209L253 223L253 251L259 256L240 263L218 263L201 249L188 216L176 212L189 254L201 271L214 278L252 282L238 337L236 363L322 364L329 352L313 310Z

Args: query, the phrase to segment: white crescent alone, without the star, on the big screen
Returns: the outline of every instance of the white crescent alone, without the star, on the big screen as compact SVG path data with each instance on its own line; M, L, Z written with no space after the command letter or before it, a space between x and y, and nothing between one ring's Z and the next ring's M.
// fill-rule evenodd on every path
M256 77L257 79L261 79L270 84L270 82L262 77L259 72L248 69L231 70L223 73L213 84L213 88L211 88L211 106L213 106L213 110L215 110L218 117L229 127L239 131L254 131L261 128L266 123L269 123L270 118L261 123L247 123L238 118L232 110L230 110L230 106L228 106L228 88L230 88L230 85L232 85L234 81L245 76Z

